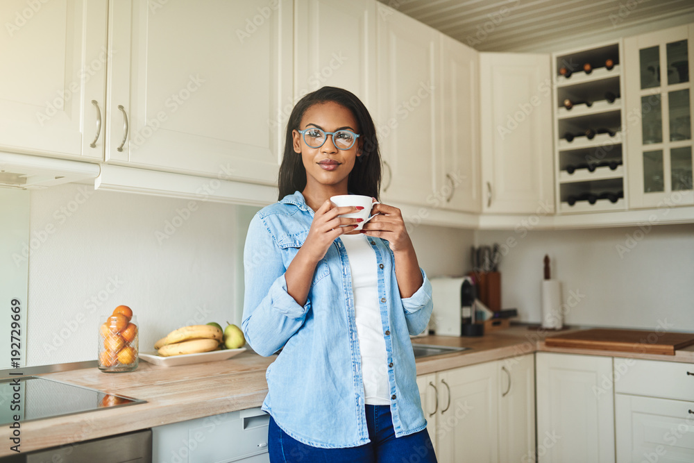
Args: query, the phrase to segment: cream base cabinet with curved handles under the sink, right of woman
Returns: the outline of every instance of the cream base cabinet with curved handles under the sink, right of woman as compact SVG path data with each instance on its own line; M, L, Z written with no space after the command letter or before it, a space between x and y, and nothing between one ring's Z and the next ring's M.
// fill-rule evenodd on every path
M439 463L534 461L534 378L533 354L419 376Z

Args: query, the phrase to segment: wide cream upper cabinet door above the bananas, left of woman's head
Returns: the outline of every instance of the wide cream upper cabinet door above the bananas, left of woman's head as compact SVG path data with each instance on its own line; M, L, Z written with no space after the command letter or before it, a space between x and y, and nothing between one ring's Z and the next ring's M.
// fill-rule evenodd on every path
M110 2L106 160L276 184L291 0Z

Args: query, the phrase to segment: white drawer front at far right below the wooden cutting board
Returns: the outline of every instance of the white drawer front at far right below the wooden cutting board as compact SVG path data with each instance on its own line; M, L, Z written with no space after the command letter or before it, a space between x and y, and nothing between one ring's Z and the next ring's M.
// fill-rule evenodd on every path
M615 357L614 392L694 401L694 364Z

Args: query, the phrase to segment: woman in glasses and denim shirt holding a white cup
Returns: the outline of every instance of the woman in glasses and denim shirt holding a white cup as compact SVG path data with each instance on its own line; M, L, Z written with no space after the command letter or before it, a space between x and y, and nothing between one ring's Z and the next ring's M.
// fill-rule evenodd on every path
M323 87L287 123L278 203L248 228L243 329L268 367L272 462L436 462L409 335L432 311L400 210L339 217L330 197L378 198L375 127L357 97ZM404 459L404 460L403 460Z

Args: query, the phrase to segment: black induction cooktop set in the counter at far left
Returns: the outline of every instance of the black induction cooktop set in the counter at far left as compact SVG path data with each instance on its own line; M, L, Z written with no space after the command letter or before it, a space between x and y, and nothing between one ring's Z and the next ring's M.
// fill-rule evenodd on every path
M17 376L0 380L0 426L145 402L48 378Z

